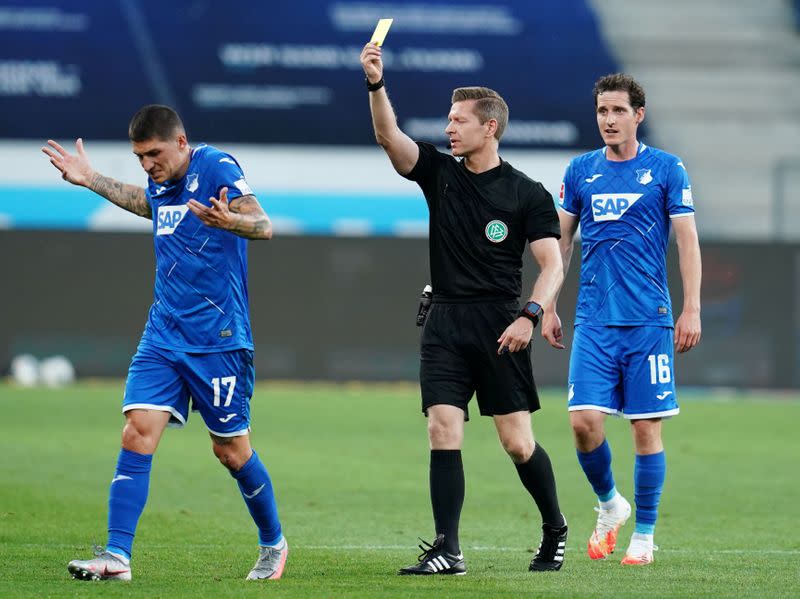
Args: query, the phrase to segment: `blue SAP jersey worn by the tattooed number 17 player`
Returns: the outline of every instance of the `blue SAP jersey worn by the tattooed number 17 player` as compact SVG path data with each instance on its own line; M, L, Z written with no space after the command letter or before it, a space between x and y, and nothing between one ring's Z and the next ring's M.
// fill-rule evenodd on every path
M192 150L186 175L149 180L156 276L142 343L184 352L253 349L247 298L247 240L204 225L186 206L252 193L236 160L216 148Z

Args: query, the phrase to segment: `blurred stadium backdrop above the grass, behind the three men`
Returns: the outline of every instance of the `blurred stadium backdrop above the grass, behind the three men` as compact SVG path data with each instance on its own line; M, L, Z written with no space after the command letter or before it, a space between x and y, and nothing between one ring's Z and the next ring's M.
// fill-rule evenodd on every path
M39 148L83 137L98 170L144 184L127 122L163 102L191 141L240 160L274 221L272 241L250 244L258 376L416 380L427 211L373 143L358 64L392 15L386 76L401 126L442 145L452 88L494 87L511 108L502 156L553 193L569 159L599 145L593 81L637 76L641 137L684 159L697 200L703 342L679 358L679 380L796 388L795 11L784 0L2 0L0 372L31 353L63 354L79 376L124 375L152 293L149 223L63 183ZM562 294L568 337L576 272ZM534 356L541 384L564 384L566 352L538 339Z

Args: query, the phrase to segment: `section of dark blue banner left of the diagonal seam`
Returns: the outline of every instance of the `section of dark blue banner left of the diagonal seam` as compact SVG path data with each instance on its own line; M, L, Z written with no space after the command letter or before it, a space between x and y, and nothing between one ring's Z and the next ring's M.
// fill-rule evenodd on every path
M0 0L0 137L127 139L156 96L124 4Z

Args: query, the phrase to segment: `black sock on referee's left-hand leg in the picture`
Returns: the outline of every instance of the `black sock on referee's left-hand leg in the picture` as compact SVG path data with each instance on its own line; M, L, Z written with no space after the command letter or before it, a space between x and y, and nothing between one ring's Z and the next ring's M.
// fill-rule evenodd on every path
M458 522L464 505L464 465L460 449L431 450L430 484L436 534L444 535L447 553L458 555Z

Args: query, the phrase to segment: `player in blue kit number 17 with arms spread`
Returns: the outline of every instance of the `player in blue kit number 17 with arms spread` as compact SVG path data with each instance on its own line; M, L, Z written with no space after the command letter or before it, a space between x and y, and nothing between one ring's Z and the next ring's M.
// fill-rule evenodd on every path
M71 154L50 140L42 151L72 184L153 221L154 301L128 370L125 426L108 499L108 542L68 570L81 580L130 580L136 524L147 501L153 454L168 424L200 412L214 454L239 485L258 527L259 557L249 580L277 579L288 547L272 482L250 446L255 378L247 298L247 239L270 239L272 225L236 160L192 147L178 114L149 105L131 119L133 153L147 188L96 172L76 142Z

